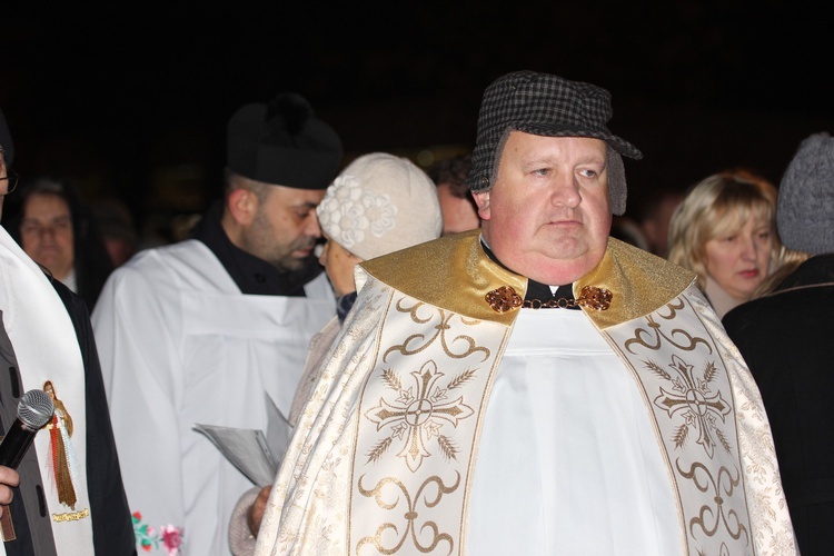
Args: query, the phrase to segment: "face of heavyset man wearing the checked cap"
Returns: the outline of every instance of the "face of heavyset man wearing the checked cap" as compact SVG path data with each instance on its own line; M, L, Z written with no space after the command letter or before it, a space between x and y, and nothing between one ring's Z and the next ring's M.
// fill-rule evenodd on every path
M599 139L512 131L494 187L474 197L486 242L515 272L570 284L605 255L612 214Z

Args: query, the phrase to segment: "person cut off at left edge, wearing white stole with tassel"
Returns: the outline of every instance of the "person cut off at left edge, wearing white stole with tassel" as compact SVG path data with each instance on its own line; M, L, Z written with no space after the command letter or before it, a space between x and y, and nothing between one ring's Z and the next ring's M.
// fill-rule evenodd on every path
M13 160L0 111L0 212L18 182ZM0 554L136 554L87 308L4 228L0 277L0 434L28 390L48 390L61 408L17 470L0 466Z

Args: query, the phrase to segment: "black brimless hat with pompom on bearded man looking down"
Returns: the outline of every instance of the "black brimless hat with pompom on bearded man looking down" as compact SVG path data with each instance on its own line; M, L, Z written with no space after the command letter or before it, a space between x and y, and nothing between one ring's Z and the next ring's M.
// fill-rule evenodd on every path
M247 105L229 120L227 165L256 181L326 189L338 173L341 155L339 136L296 93Z

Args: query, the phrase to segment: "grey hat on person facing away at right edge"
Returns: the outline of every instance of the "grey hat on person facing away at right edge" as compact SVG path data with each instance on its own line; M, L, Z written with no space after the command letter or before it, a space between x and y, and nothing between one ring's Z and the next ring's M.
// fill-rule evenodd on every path
M785 247L834 252L834 138L814 133L800 145L778 191L776 226Z

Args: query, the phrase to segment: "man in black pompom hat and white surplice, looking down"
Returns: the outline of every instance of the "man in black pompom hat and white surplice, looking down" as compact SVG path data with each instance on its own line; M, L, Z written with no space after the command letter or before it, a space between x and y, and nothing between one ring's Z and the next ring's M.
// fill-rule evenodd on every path
M335 315L312 254L341 142L298 95L229 120L226 190L186 241L135 256L93 311L138 545L228 554L251 484L196 424L267 428L288 415L309 340Z

